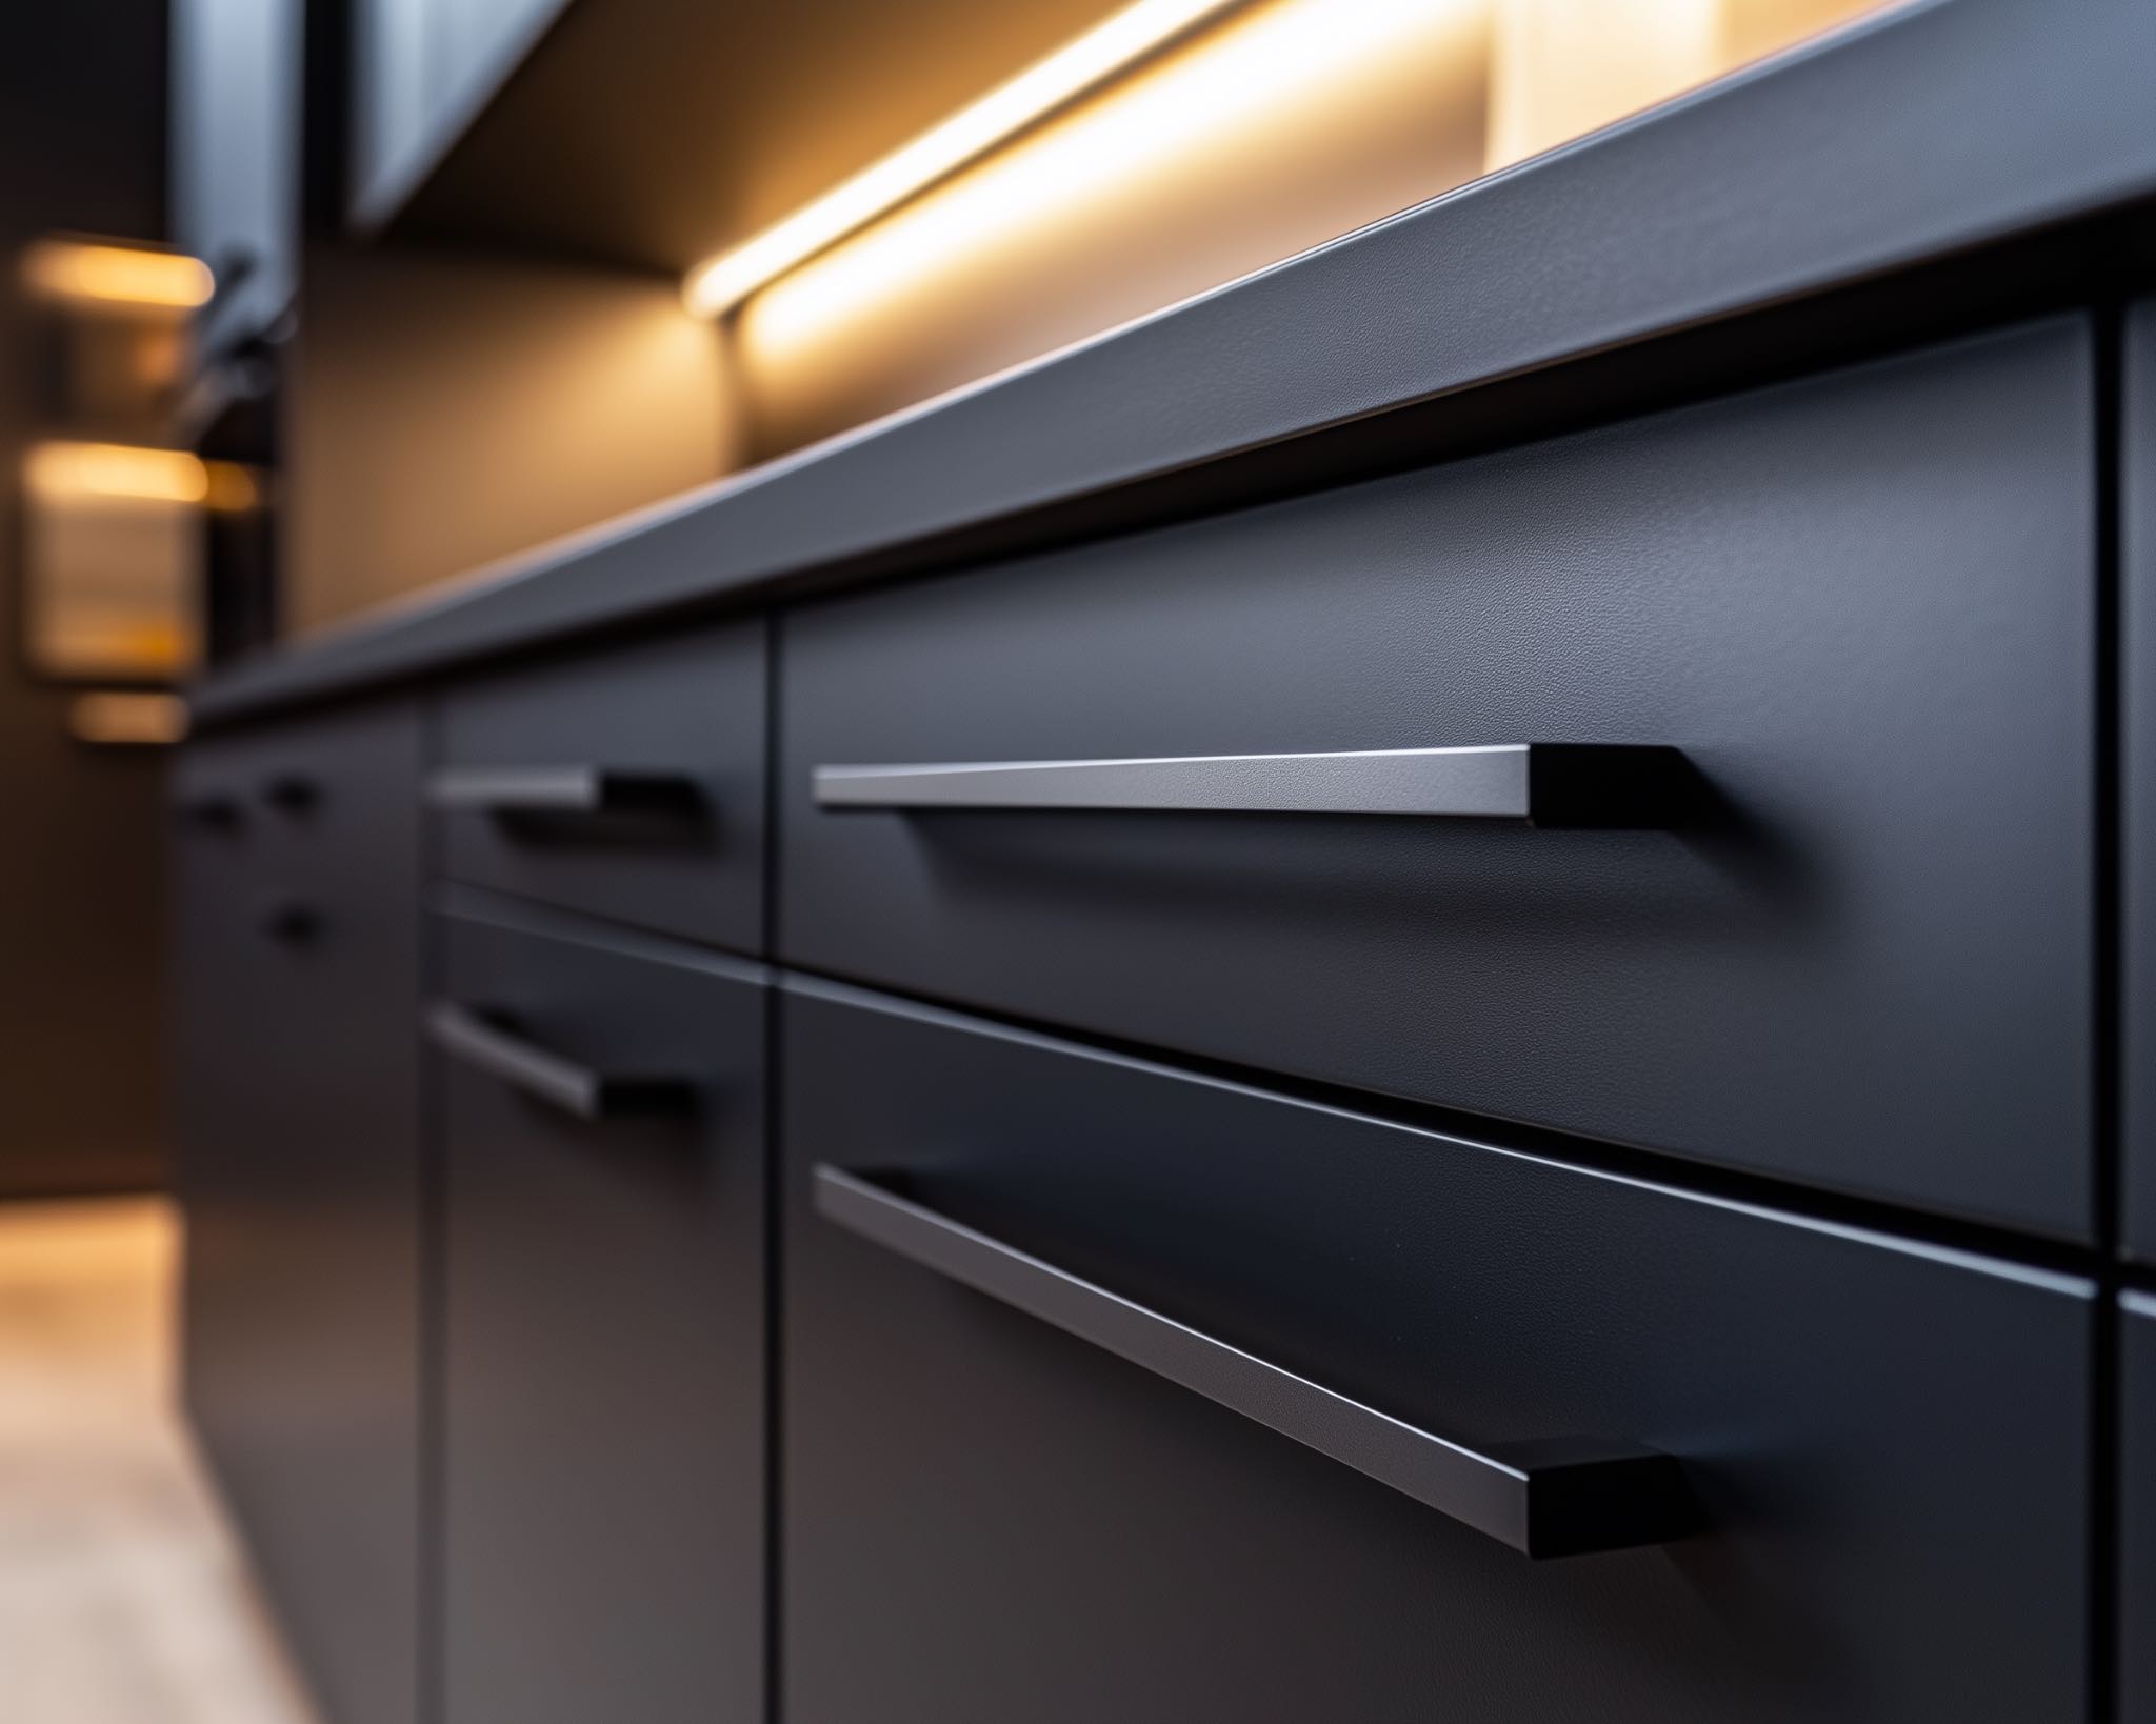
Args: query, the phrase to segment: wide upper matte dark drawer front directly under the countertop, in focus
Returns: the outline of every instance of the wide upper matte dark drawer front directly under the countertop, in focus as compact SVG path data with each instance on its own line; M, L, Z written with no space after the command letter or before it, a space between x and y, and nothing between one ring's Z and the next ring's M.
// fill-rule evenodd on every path
M780 948L2083 1235L2091 425L2089 332L2061 319L802 608ZM1546 830L1158 808L1246 806L1212 767L1136 774L1151 812L819 806L815 782L1481 743L1675 746L1703 806ZM1388 789L1326 769L1287 791Z

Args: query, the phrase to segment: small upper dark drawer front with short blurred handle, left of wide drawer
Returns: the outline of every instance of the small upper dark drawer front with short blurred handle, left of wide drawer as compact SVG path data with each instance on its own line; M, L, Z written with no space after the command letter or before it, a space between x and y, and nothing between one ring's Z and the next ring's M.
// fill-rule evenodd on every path
M444 871L757 950L763 733L761 621L455 687L431 780Z

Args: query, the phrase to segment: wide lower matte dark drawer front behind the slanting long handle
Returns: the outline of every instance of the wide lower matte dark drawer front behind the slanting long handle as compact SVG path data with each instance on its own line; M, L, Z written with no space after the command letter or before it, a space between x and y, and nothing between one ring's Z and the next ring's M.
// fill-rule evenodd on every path
M780 1047L796 1724L2081 1715L2081 1282L837 985ZM983 1297L826 1213L847 1172L1080 1334L1130 1299L1190 1381L1304 1388ZM1393 1420L1675 1457L1705 1530L1531 1560L1356 1470Z

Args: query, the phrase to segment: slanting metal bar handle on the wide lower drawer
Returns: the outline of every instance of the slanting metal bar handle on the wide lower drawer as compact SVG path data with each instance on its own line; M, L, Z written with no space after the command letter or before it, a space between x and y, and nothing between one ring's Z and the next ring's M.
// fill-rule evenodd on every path
M1065 1334L1218 1401L1526 1556L1660 1545L1697 1528L1680 1463L1595 1437L1470 1448L1214 1340L843 1168L826 1220Z

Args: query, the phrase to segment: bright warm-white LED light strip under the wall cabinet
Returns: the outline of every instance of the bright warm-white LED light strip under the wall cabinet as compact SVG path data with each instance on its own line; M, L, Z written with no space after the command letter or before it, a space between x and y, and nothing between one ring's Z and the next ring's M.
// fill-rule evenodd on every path
M1028 125L1244 4L1248 0L1136 0L776 226L694 269L683 289L688 308L718 317Z

